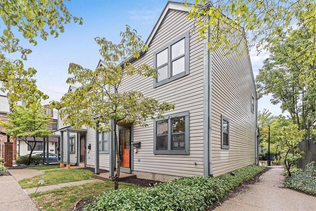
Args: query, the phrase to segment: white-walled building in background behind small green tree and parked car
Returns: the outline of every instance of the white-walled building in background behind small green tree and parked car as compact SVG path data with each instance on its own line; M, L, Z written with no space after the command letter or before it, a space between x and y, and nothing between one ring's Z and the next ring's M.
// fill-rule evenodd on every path
M58 129L58 110L56 109L50 109L47 107L48 105L43 105L43 108L44 108L44 113L45 114L49 114L52 116L52 120L53 120L53 123L50 123L47 125L47 129L50 129L51 131L57 131ZM50 153L54 153L54 154L57 154L58 155L58 141L59 140L59 137L58 136L51 136L48 138L48 141L49 141L49 152ZM19 152L19 156L20 155L27 155L27 154L30 154L31 152L31 147L28 145L30 144L31 146L33 146L33 144L35 143L34 142L34 138L33 137L27 137L27 143L25 143L24 140L18 138L17 139L18 141L18 152ZM35 141L36 141L36 145L35 145L35 148L33 150L33 153L34 152L43 152L43 138L35 138ZM46 140L45 140L46 141ZM46 148L45 148L46 150Z

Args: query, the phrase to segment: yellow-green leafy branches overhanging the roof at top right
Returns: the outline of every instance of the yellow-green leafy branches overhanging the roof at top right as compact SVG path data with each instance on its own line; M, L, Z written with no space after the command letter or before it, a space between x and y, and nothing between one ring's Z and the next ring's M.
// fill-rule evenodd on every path
M188 6L186 0L184 2ZM291 53L300 56L305 64L314 65L315 11L314 0L195 0L187 18L194 20L195 26L198 26L199 38L206 39L209 34L211 51L223 48L228 52L238 52L241 44L247 44L244 37L248 35L251 35L248 46L256 46L258 52L268 50L274 43L280 42L284 32L291 33L296 22L308 38L303 49L297 48ZM238 42L232 42L231 37ZM302 68L301 81L315 83L315 72L305 72L309 74L304 75Z

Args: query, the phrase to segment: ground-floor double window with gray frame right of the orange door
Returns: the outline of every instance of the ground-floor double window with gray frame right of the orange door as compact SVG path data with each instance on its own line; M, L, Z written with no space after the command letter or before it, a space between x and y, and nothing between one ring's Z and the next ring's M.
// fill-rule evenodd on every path
M189 112L154 120L154 154L189 154Z

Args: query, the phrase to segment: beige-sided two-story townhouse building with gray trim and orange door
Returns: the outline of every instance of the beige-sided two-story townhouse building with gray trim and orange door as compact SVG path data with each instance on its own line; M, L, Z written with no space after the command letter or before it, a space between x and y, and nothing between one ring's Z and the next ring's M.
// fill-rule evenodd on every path
M131 59L133 65L147 63L156 68L158 78L129 76L119 90L133 89L176 104L164 119L149 118L148 127L119 125L119 143L124 143L121 171L139 178L167 181L219 176L258 164L258 101L246 46L239 59L234 52L224 56L221 49L210 53L205 41L197 42L198 31L192 30L193 22L186 19L189 9L168 2L146 41L149 50ZM98 67L102 64L100 61ZM73 90L70 86L69 92ZM61 119L58 125L64 163L99 165L113 175L113 132L74 129L63 125ZM100 151L95 151L95 144Z

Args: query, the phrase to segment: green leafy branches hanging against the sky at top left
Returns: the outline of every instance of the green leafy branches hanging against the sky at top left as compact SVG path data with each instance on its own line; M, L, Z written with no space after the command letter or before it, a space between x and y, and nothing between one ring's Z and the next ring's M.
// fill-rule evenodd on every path
M19 45L20 40L15 38L12 29L17 28L35 46L38 35L43 40L49 34L56 38L59 32L64 32L64 24L71 20L82 24L82 18L72 16L62 0L2 0L0 15L4 23L3 35L0 36L0 90L8 92L10 103L21 101L32 108L41 107L40 100L48 99L48 96L36 87L36 70L31 67L24 69L22 61L27 60L27 54L32 50ZM3 52L20 52L22 60L9 59Z

